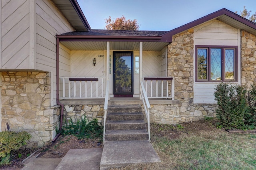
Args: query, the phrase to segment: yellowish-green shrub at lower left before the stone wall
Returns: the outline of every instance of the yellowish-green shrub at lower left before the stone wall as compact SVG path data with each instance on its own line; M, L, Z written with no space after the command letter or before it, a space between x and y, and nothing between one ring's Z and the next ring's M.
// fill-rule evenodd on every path
M31 138L28 132L0 132L0 166L10 164L10 155L14 150L26 145L26 141Z

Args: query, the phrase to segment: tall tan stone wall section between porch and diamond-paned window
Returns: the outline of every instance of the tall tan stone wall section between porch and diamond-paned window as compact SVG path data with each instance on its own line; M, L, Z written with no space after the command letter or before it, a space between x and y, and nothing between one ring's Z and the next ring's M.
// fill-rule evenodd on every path
M168 76L175 78L175 99L181 102L179 112L183 121L193 109L193 33L194 30L190 29L173 36L172 43L168 45Z

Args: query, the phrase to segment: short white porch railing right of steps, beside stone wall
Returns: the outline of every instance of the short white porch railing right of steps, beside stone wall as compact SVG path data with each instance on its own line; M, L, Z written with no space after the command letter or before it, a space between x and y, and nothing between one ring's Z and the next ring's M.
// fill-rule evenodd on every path
M174 77L144 77L145 91L148 98L163 98L174 100ZM171 90L169 95L169 85ZM149 88L148 88L149 86ZM150 91L148 91L148 89Z

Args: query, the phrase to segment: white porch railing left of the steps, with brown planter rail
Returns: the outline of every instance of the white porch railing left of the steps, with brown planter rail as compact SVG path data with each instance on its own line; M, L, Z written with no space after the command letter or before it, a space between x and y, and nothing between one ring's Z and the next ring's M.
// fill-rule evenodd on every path
M104 98L104 79L107 77L60 77L60 99Z

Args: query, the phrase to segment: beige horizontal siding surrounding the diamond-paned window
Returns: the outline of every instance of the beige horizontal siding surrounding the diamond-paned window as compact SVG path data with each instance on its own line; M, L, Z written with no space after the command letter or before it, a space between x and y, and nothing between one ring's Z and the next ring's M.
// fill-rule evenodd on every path
M194 62L196 61L195 45L238 46L240 45L239 35L240 34L238 29L224 24L223 22L220 22L218 20L213 20L194 28ZM240 52L238 52L238 60L239 59ZM239 69L238 71L240 72ZM196 75L195 69L194 75ZM194 82L194 103L216 103L216 101L214 100L215 85L216 83Z

